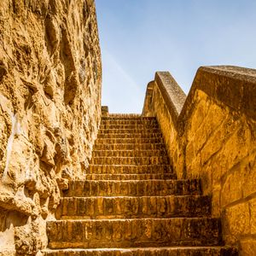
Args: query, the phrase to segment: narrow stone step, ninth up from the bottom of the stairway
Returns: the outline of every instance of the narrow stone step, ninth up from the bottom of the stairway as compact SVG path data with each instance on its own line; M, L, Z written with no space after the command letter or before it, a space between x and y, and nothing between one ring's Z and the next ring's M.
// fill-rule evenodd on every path
M96 143L94 150L150 150L165 149L164 143Z

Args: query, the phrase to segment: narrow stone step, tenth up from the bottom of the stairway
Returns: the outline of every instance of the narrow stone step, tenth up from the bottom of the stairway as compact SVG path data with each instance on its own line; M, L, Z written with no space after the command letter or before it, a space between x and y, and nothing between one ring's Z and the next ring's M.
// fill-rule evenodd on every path
M143 143L163 143L162 138L98 138L95 145L99 144L143 144Z

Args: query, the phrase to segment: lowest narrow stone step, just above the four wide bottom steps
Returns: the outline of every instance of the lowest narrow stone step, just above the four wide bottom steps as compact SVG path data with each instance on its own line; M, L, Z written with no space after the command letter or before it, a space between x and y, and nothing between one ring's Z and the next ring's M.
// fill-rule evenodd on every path
M175 173L157 174L85 174L85 180L140 180L140 179L176 179Z

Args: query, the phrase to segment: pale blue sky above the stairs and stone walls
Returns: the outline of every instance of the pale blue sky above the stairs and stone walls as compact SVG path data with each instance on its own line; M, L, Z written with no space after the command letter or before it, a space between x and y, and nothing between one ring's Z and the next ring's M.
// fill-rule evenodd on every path
M255 0L96 0L102 105L141 113L156 71L187 94L198 67L256 68Z

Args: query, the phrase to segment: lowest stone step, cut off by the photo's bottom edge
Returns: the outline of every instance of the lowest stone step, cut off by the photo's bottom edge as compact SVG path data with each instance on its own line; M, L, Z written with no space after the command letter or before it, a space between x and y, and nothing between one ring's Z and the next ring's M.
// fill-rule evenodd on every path
M133 247L45 250L44 256L238 256L232 247Z

